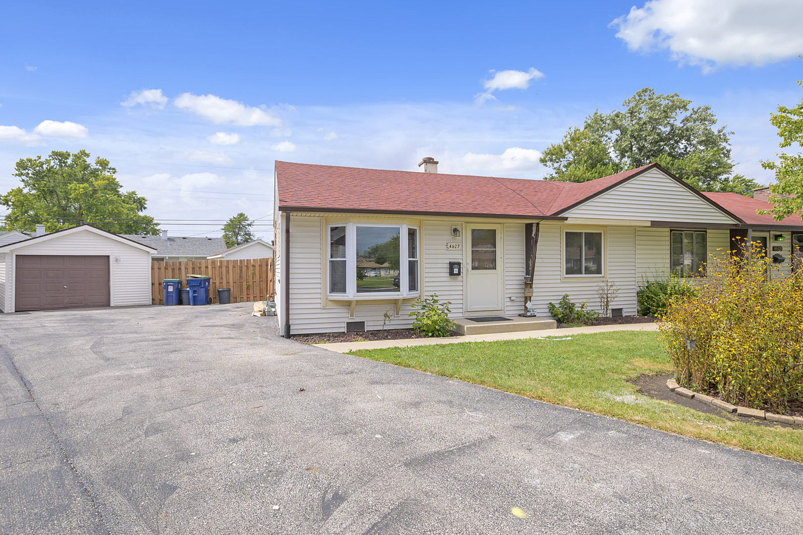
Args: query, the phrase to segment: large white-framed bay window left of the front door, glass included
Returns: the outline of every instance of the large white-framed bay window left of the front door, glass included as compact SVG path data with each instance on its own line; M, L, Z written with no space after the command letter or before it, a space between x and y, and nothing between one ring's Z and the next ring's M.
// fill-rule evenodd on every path
M410 225L327 225L328 294L393 298L420 294L419 230Z

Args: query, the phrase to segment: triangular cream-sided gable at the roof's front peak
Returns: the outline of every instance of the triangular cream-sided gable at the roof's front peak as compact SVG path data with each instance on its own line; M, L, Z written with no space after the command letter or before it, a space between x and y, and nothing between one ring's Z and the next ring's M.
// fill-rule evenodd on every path
M636 176L560 215L647 221L735 222L657 169Z

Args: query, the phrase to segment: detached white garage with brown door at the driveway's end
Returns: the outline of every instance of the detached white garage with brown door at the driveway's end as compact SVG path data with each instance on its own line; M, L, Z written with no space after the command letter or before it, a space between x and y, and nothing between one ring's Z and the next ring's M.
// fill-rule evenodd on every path
M0 246L0 312L149 305L153 251L92 225Z

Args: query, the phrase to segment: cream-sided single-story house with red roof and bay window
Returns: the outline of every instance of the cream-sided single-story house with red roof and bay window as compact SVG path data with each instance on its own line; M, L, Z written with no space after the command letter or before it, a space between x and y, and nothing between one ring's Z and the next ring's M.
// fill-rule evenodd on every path
M799 217L753 218L744 197L699 193L658 164L581 184L438 174L434 160L422 164L425 172L275 163L286 336L347 323L407 328L411 305L431 294L451 303L453 318L513 316L530 301L551 318L548 303L563 294L599 309L603 281L619 289L612 313L632 315L646 278L705 277L708 255L727 254L744 233L789 258L793 236L803 235ZM357 277L358 257L379 256L399 270L397 285Z

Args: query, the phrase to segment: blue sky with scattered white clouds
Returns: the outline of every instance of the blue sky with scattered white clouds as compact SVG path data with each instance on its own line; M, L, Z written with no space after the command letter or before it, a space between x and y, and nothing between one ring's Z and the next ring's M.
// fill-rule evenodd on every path
M767 183L801 21L787 0L6 2L0 192L19 158L87 148L161 221L269 223L274 160L538 178L540 151L642 87L710 104ZM220 226L194 223L165 226Z

